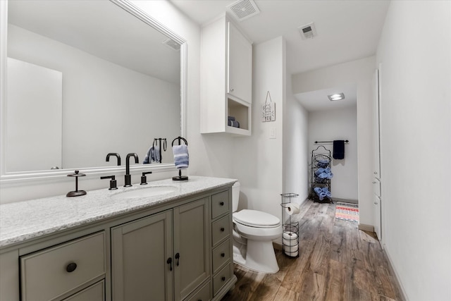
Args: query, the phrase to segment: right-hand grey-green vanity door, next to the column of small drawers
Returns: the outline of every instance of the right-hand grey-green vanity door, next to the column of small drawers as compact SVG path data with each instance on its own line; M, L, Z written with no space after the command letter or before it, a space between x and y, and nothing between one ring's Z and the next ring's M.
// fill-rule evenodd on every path
M176 207L173 211L174 291L175 301L180 301L210 276L208 198Z

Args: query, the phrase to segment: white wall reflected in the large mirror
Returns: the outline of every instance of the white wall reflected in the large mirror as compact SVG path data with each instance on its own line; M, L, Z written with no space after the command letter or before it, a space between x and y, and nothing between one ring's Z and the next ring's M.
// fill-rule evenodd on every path
M180 135L179 85L14 25L8 25L8 56L63 73L60 168L106 166L109 152L123 160L136 152L142 162L154 138ZM162 158L173 162L171 152Z

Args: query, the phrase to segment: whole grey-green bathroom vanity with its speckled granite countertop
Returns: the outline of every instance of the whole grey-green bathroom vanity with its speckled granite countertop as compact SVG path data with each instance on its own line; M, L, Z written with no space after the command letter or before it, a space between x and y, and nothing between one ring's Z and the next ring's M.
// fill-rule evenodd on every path
M190 176L1 205L0 300L221 300L237 280L233 183Z

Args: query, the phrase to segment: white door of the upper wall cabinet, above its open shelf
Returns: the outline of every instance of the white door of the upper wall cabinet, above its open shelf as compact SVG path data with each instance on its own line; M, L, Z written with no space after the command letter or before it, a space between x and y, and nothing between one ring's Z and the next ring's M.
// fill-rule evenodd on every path
M252 102L252 44L228 22L228 93Z

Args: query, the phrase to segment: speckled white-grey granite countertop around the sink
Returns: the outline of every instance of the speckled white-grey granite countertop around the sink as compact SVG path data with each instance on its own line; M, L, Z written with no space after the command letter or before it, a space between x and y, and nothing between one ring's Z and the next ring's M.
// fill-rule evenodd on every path
M152 208L158 204L189 197L206 190L235 183L229 178L190 176L187 181L157 180L149 185L134 184L117 190L87 191L80 197L45 197L0 205L0 248L25 240L39 238L69 228L94 223L138 209ZM175 190L164 195L121 199L113 197L128 190L150 186L173 186Z

